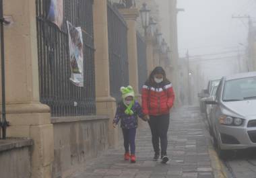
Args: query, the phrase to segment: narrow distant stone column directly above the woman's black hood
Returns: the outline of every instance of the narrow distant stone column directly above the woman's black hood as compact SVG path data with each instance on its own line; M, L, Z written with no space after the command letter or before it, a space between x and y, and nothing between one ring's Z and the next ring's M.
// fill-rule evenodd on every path
M153 71L154 69L154 57L153 57L153 39L151 36L148 36L146 38L146 56L147 56L147 69L148 69L148 75Z

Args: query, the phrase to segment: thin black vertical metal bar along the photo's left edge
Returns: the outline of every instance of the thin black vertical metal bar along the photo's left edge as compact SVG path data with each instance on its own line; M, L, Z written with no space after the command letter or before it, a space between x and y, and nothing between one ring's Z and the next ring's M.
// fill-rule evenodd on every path
M6 110L5 110L5 48L4 48L4 37L3 37L3 24L6 22L3 18L3 0L0 0L0 29L1 29L1 79L2 79L2 120L1 120L1 128L2 128L2 137L6 138L6 129L8 126L8 122L6 120Z

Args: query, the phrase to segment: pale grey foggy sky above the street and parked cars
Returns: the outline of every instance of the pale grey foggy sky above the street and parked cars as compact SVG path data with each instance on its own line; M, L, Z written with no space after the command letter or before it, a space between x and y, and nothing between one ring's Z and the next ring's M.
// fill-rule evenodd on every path
M168 38L168 0L157 2L162 32ZM178 14L179 56L189 50L191 81L199 85L195 93L211 79L246 71L248 19L232 19L232 15L250 15L254 20L256 0L177 0L177 7L185 9Z

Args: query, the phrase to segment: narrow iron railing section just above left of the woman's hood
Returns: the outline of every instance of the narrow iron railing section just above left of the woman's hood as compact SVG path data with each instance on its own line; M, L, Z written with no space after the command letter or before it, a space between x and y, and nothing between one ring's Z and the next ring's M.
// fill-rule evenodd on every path
M146 59L146 42L139 32L137 32L137 64L138 64L138 80L139 92L141 92L144 83L147 80L147 59Z

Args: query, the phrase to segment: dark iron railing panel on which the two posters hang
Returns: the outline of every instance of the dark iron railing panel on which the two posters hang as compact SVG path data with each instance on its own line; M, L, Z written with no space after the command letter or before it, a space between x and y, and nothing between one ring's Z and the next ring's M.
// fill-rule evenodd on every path
M63 0L63 26L47 20L51 0L36 0L40 101L52 116L96 114L93 0ZM66 21L82 28L84 87L71 83Z

